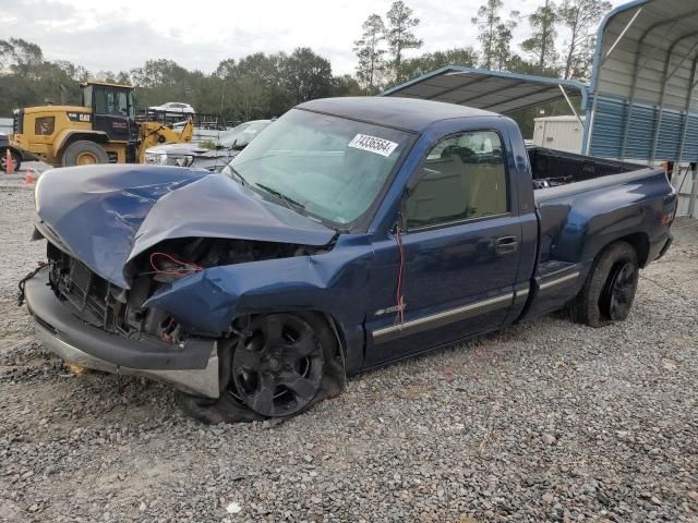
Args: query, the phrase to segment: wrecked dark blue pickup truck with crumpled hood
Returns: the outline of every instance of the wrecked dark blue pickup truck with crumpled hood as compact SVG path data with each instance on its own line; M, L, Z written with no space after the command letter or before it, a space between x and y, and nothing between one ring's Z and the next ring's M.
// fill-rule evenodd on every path
M300 105L220 174L56 169L36 208L48 262L21 297L44 345L217 423L553 311L622 321L676 194L660 169L527 149L498 114L376 97Z

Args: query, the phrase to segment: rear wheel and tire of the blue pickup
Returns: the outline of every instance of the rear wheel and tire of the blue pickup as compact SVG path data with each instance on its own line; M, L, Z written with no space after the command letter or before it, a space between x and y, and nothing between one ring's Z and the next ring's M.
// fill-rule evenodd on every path
M573 302L573 320L594 328L625 321L635 301L639 270L637 252L630 244L611 244Z

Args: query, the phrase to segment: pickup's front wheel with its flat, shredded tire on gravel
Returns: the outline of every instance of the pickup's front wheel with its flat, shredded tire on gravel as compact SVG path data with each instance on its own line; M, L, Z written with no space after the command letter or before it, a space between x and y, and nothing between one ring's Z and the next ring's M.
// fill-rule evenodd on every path
M346 379L337 337L315 313L256 316L218 357L220 398L177 393L179 405L204 423L294 416L338 396Z

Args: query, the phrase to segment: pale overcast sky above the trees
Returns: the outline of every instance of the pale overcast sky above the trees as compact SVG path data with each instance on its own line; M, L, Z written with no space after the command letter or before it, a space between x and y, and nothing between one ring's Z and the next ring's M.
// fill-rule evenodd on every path
M470 23L484 0L407 0L421 24L420 50L474 45ZM505 0L527 15L544 0ZM212 72L226 58L292 51L306 46L332 61L335 73L352 73L353 40L371 13L384 15L390 0L0 0L3 37L38 44L48 60L64 59L91 71L123 71L153 58ZM623 0L612 0L614 5ZM32 21L32 23L26 23ZM8 34L8 28L16 28ZM521 21L518 40L526 36ZM561 41L564 35L561 35Z

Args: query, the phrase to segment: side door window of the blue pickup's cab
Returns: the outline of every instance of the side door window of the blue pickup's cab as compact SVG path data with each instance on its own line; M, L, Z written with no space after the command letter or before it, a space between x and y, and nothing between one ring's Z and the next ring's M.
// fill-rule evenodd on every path
M484 218L508 210L500 135L478 131L438 142L410 192L407 229Z

